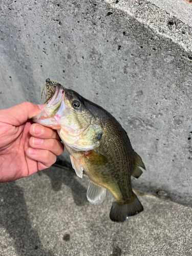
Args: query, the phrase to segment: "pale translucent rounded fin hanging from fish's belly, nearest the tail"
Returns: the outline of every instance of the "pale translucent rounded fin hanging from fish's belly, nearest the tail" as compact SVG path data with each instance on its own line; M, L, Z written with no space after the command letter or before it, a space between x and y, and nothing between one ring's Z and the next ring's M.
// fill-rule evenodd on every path
M90 181L87 191L88 201L92 204L100 204L106 195L106 188Z

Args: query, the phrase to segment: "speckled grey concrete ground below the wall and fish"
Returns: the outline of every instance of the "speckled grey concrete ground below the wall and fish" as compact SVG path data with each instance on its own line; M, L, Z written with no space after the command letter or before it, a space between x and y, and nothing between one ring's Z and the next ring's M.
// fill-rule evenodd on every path
M91 205L88 178L52 166L0 184L2 256L189 256L192 208L138 193L144 206L124 223L109 218L112 195Z

